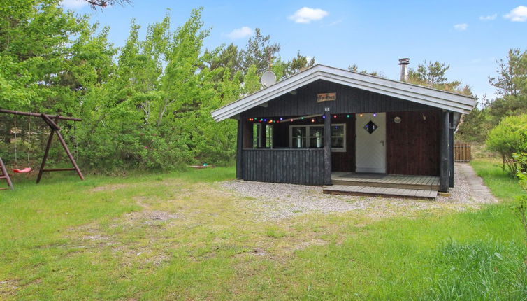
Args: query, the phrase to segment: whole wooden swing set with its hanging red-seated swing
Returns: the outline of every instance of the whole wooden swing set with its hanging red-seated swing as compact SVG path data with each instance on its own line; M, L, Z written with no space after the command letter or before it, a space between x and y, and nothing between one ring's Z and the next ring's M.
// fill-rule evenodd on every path
M80 169L77 165L77 162L75 162L75 158L73 158L73 155L69 151L68 146L66 145L66 141L64 141L64 138L62 137L62 134L60 133L61 128L57 125L59 123L59 120L70 120L70 121L82 121L80 118L74 118L74 117L68 117L68 116L59 116L59 115L48 115L45 113L32 113L32 112L21 112L21 111L11 111L6 109L0 109L0 113L6 113L6 114L13 114L15 115L15 126L10 130L10 133L15 136L15 169L13 169L13 172L17 174L25 174L33 171L30 165L30 151L31 151L31 117L40 117L44 120L45 124L50 127L50 137L48 138L48 144L46 144L44 156L42 158L41 167L38 169L38 176L36 178L36 183L40 183L42 179L42 175L44 172L66 172L66 171L75 171L77 172L78 176L81 180L84 180L84 176L82 176L82 172L80 172ZM28 116L28 130L27 130L27 144L28 144L28 151L27 151L27 167L23 169L18 168L18 155L17 155L17 134L20 134L22 130L20 130L17 127L17 118L16 116ZM57 138L59 139L60 143L62 144L62 147L64 148L64 151L66 151L66 154L68 155L69 160L71 161L71 164L73 165L72 168L55 168L55 169L45 169L45 162L48 160L48 153L51 148L51 144L53 141L54 134L57 134ZM75 137L76 139L76 137ZM0 180L6 180L9 188L11 190L14 190L13 182L10 179L10 176L7 172L6 165L3 164L2 158L0 158ZM8 188L0 188L0 190L4 190Z

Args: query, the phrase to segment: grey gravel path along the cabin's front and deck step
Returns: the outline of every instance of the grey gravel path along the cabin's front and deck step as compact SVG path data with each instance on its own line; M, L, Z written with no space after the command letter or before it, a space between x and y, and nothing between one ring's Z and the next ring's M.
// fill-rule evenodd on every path
M471 168L470 165L468 167ZM479 204L496 202L493 197L481 198L472 192L466 173L461 168L456 168L455 171L456 187L451 189L452 195L438 197L435 201L326 195L319 186L252 181L225 181L220 186L243 196L240 206L250 207L257 218L263 220L289 218L310 212L329 214L345 211L360 211L368 216L382 218L426 209L462 211L477 208Z

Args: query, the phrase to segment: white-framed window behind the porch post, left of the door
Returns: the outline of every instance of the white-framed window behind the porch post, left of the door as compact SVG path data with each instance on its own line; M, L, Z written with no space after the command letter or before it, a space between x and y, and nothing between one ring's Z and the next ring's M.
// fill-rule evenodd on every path
M324 148L324 125L289 126L289 147ZM331 151L346 151L346 125L331 125Z

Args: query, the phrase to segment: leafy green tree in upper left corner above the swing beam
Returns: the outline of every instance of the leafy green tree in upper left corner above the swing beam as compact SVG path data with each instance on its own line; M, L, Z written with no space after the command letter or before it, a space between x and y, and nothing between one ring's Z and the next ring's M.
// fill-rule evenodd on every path
M0 4L0 106L41 109L55 105L68 85L72 37L89 30L87 18L64 12L58 0L3 1ZM75 86L69 86L75 89ZM46 101L46 102L44 102Z

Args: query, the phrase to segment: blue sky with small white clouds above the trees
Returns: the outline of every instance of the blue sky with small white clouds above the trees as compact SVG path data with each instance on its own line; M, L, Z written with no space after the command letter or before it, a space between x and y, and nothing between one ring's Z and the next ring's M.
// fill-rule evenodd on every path
M280 43L282 59L300 50L318 63L378 71L398 78L398 59L410 66L424 60L450 64L449 79L462 80L478 97L492 98L488 76L510 48L527 49L527 1L145 1L93 11L82 0L66 8L91 15L110 27L110 41L124 44L130 20L143 34L170 8L173 27L203 6L205 27L212 27L207 48L222 43L243 47L260 28Z

